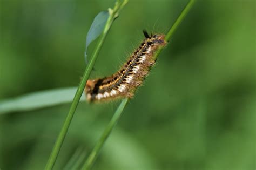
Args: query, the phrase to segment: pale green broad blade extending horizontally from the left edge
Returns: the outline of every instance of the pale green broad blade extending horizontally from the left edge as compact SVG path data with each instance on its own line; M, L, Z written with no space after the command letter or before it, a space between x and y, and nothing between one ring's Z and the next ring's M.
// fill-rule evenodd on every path
M25 94L24 96L2 100L0 101L0 114L14 111L29 111L68 103L73 100L76 90L77 87L67 87L34 92ZM82 96L81 100L85 100L85 96Z

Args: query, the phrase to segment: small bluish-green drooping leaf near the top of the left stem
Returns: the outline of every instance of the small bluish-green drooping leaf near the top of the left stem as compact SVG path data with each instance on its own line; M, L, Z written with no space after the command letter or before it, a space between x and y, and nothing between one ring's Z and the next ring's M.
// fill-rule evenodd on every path
M86 45L85 45L85 52L84 52L86 63L87 63L87 48L91 44L91 42L93 42L93 40L98 38L99 35L102 33L106 25L107 18L109 18L109 12L102 11L102 12L99 12L98 15L93 19L91 28L88 31L86 36Z

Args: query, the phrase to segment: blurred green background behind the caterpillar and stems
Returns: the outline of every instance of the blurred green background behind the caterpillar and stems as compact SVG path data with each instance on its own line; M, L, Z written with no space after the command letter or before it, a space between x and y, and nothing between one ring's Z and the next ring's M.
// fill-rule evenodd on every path
M166 33L186 3L129 1L91 78L115 72L143 39L143 29ZM1 0L0 99L77 86L86 33L97 13L113 4ZM93 169L256 168L255 6L197 1ZM118 104L79 104L55 169L74 152L80 159L90 152ZM0 169L43 169L69 107L0 114Z

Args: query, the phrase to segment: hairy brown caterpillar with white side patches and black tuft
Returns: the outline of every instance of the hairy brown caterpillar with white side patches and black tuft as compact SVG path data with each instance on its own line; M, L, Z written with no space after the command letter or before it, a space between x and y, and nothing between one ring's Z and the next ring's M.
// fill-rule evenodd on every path
M137 87L143 83L150 68L156 62L154 53L167 43L165 35L143 31L145 39L132 53L127 62L112 76L87 80L86 99L89 102L118 98L132 98Z

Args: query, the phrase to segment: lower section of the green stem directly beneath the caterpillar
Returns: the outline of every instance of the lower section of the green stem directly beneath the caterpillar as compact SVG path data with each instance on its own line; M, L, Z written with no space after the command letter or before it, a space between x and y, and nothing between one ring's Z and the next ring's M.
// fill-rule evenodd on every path
M113 117L111 118L109 124L106 126L102 136L100 137L100 139L97 141L95 147L92 149L92 152L90 153L89 157L87 158L87 160L85 161L85 164L83 166L83 170L89 170L92 165L93 162L95 162L100 149L102 148L102 146L104 145L107 137L109 137L111 131L113 130L114 125L117 124L117 121L119 120L126 104L128 103L129 99L125 98L122 100L122 102L120 103L119 107L117 108L116 112L113 114Z

